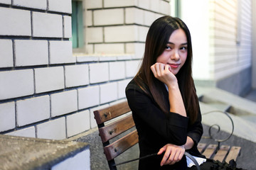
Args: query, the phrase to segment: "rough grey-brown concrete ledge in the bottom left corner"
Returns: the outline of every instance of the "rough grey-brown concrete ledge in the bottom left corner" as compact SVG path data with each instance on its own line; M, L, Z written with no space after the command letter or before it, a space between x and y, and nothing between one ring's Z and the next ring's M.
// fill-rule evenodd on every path
M1 170L58 169L66 160L79 164L80 159L77 156L81 152L82 165L86 166L85 169L90 169L89 145L85 142L0 135L0 148ZM70 158L73 160L70 161Z

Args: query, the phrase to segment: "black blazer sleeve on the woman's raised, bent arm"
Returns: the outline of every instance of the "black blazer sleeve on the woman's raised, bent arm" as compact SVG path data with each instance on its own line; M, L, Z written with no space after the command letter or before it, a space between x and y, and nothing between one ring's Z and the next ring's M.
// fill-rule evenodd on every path
M159 109L154 100L139 87L127 86L127 101L132 114L156 130L167 142L174 145L186 143L188 118L177 113L168 116Z

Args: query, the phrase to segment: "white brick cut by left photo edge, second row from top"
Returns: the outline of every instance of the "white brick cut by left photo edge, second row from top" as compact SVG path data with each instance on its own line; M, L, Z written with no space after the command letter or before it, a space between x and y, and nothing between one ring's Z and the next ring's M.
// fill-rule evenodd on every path
M31 11L0 7L0 35L31 36Z

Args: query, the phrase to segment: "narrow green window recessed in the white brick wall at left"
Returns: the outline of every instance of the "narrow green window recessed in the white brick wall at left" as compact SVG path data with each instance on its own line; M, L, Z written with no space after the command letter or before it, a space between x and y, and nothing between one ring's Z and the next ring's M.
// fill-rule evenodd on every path
M72 43L73 50L81 51L84 49L84 24L82 1L72 1Z

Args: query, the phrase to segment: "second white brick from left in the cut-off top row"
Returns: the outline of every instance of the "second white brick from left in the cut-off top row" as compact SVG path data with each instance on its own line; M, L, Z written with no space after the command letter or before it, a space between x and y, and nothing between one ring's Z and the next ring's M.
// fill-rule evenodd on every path
M14 0L13 2L14 6L22 6L26 8L38 8L46 10L47 8L47 1L46 0Z

